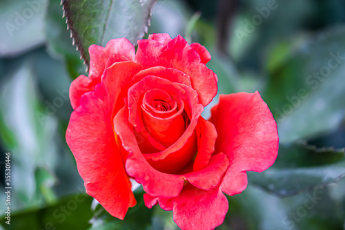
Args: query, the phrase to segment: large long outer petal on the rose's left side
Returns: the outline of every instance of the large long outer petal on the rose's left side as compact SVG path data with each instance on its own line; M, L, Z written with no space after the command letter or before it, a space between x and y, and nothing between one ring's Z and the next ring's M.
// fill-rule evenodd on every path
M101 84L83 95L70 117L66 140L75 155L86 193L123 220L128 207L136 202L115 142L108 105Z

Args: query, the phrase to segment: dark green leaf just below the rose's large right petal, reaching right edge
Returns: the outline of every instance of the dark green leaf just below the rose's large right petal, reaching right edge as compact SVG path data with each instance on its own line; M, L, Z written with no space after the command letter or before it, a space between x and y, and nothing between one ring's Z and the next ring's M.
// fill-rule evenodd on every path
M248 173L248 182L277 195L322 188L345 177L344 151L303 145L279 146L275 164L263 173Z

